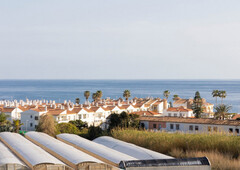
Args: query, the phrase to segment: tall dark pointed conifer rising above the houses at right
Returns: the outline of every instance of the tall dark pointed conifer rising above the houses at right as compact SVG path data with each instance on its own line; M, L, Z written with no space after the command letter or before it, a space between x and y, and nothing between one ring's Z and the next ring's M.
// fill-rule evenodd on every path
M192 109L193 109L193 113L195 114L195 117L200 118L201 114L203 113L203 107L202 107L202 98L198 91L195 93Z

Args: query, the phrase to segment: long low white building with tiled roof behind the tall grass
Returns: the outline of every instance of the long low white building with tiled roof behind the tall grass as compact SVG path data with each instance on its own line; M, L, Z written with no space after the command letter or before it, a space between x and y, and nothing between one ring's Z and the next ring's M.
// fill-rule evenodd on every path
M164 130L167 132L225 132L240 135L240 121L197 119L179 117L141 117L140 123L148 130Z

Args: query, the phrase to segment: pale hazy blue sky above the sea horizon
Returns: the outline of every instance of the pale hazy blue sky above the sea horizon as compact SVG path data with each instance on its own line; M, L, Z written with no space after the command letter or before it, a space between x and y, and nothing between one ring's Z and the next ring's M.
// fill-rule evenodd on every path
M239 0L1 0L0 79L240 79Z

